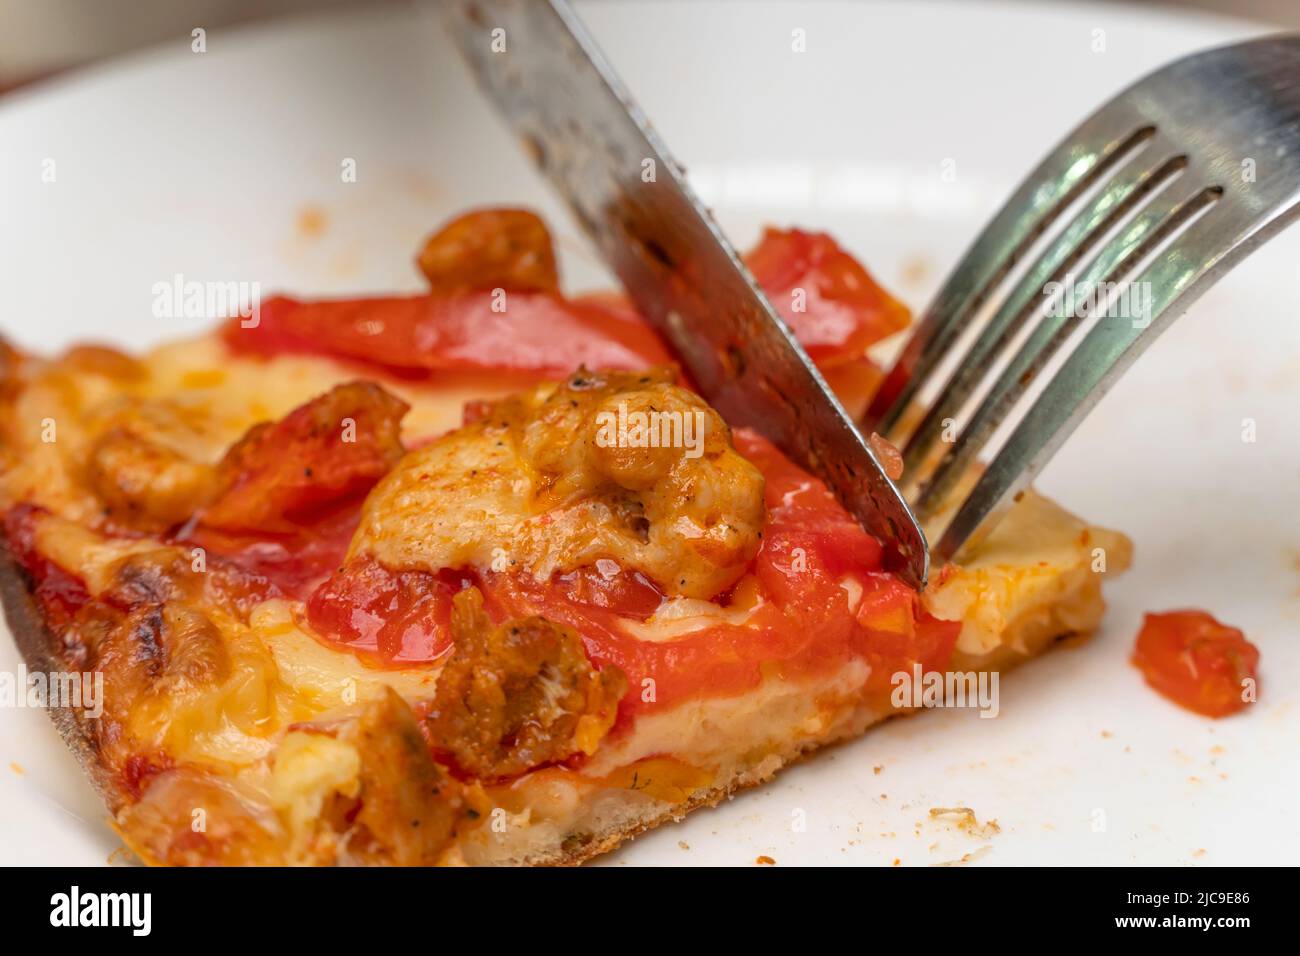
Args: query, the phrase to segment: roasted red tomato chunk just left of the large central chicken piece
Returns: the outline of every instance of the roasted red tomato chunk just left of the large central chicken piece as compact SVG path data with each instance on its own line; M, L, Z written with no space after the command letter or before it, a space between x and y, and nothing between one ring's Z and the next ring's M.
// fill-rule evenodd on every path
M364 494L402 457L407 408L373 382L350 382L254 427L222 459L225 490L200 523L226 532L290 532Z

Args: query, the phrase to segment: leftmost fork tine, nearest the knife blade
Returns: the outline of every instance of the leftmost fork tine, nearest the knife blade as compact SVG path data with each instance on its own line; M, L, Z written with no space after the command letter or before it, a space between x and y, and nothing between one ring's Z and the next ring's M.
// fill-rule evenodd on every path
M898 434L900 425L920 385L1017 259L1075 199L1152 134L1150 126L1102 111L1048 153L966 251L918 323L863 418L864 432L878 431L901 442L905 436Z

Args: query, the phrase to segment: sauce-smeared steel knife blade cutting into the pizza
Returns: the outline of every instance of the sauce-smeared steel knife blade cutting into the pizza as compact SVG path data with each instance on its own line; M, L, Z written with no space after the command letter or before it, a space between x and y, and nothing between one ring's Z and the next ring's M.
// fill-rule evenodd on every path
M926 536L566 0L451 0L446 26L701 394L818 475L914 588Z

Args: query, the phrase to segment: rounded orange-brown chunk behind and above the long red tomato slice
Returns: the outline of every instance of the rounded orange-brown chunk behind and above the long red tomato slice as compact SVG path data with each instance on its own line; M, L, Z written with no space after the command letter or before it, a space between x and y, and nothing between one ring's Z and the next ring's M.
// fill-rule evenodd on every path
M420 272L439 294L559 291L546 224L526 209L474 209L447 222L420 251Z

